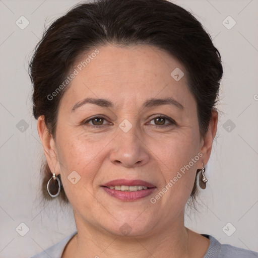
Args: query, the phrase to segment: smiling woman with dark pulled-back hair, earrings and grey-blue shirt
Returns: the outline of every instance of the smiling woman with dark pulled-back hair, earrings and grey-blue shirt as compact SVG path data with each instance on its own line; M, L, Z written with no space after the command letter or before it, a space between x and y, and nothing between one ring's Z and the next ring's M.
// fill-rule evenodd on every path
M254 257L184 226L205 189L223 69L165 0L99 0L57 19L30 63L45 197L77 231L35 257ZM197 180L198 178L198 180Z

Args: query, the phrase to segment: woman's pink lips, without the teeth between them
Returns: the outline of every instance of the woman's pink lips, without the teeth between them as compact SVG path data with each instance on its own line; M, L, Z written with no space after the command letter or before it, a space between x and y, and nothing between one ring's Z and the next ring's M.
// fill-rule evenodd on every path
M115 190L108 188L109 186L115 186L115 185L142 185L150 187L148 189L138 190L138 191L121 191L121 190ZM106 186L106 187L105 187ZM151 195L151 193L157 188L155 185L143 181L143 180L128 180L128 179L116 179L109 181L105 183L103 186L101 186L102 189L108 193L108 195L120 200L120 201L136 201L141 198L147 197Z

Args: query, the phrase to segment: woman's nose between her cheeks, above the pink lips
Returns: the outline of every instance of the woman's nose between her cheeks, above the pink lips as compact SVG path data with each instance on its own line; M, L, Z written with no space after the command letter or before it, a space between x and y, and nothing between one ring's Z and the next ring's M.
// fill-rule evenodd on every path
M137 132L136 126L133 126L127 133L118 128L117 136L112 144L113 148L109 157L115 165L131 168L143 166L149 162L150 150L144 143L139 130Z

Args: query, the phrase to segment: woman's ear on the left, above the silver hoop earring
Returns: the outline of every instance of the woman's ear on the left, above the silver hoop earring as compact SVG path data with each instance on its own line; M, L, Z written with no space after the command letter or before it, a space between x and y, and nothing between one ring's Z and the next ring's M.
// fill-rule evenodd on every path
M55 174L58 175L60 171L59 171L59 166L57 166L58 160L56 155L55 142L52 135L50 135L48 131L43 115L41 115L38 118L37 129L38 129L39 138L41 140L41 144L44 149L44 154L46 157L47 164L51 172L52 173L55 172Z

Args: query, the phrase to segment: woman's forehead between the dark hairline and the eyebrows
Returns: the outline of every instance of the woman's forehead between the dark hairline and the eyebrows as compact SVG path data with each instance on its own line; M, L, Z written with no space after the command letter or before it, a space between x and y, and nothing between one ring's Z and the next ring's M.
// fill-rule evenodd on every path
M120 106L125 101L140 105L145 99L168 96L183 106L193 101L183 66L166 51L148 45L96 49L75 64L77 75L63 96L68 105L85 97L113 99ZM184 76L175 80L173 71Z

